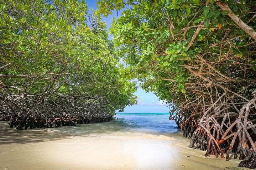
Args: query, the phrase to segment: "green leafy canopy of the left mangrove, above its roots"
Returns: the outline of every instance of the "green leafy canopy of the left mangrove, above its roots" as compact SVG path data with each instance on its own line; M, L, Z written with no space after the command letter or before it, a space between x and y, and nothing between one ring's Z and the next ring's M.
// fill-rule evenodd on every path
M0 85L40 94L100 96L109 111L136 100L134 83L117 67L101 17L85 1L0 1ZM88 19L89 18L89 19Z

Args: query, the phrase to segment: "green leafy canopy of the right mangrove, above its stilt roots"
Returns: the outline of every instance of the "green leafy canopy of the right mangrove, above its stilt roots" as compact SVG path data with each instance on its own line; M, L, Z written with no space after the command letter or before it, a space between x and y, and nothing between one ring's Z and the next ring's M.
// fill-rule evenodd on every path
M256 68L255 57L244 60L248 45L255 44L256 37L247 33L248 28L252 33L256 29L251 13L255 1L99 0L97 4L105 16L128 6L110 28L116 52L124 56L131 74L144 81L144 89L156 91L161 99L182 98L189 85L211 84L211 78L204 77L208 71L198 68L200 63L207 66L207 60L225 64L238 57ZM248 27L240 27L234 16ZM223 67L217 69L225 72ZM202 80L189 83L192 75Z

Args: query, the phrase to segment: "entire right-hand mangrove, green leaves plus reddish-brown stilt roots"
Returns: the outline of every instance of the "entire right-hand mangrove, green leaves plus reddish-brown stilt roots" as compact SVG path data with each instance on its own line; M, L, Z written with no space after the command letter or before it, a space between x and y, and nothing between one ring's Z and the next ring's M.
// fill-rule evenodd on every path
M123 10L110 32L145 90L173 103L190 147L206 156L240 152L256 167L256 2L253 0L100 0ZM195 145L196 143L196 145Z

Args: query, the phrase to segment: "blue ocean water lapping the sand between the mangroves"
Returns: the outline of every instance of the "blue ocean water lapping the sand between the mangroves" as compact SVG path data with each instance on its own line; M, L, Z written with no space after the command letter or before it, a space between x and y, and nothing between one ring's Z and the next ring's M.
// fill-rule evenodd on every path
M172 137L172 134L181 132L175 121L169 120L169 113L133 113L117 114L110 122L81 124L71 127L45 129L47 131L72 135L121 135L141 136L157 135Z

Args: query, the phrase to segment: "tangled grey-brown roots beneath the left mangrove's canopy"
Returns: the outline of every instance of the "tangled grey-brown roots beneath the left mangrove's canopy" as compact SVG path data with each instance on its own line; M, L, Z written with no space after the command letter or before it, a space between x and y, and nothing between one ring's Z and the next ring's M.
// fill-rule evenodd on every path
M0 95L0 120L9 120L10 127L24 130L75 126L114 119L108 114L107 104L100 97L88 93L64 96L54 92L55 90L47 88L40 95L25 93L23 90L19 90L17 95Z

